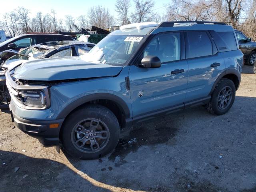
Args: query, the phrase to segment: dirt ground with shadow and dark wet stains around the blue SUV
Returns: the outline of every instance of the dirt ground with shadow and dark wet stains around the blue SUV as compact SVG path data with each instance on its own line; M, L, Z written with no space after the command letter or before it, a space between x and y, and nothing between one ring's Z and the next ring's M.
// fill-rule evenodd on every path
M136 126L112 154L76 160L0 113L0 192L256 192L256 74L245 66L231 110L204 107Z

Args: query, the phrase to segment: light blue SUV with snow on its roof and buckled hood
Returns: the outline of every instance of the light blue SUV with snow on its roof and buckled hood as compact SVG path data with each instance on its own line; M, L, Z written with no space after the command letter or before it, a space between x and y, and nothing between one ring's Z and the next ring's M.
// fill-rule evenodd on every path
M224 23L140 23L120 27L80 58L10 69L6 84L18 128L44 146L94 159L138 122L200 105L225 114L243 63L234 29Z

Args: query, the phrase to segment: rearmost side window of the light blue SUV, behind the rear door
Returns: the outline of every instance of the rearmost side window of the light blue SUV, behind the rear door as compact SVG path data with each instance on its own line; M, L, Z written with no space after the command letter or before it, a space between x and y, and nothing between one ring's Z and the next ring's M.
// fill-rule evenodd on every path
M219 52L238 50L234 32L210 32Z

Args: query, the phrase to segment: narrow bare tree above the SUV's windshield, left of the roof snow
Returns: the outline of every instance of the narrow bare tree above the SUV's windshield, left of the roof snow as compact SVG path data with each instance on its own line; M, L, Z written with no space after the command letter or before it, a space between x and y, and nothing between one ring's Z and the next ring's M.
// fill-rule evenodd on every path
M118 20L122 25L130 24L130 17L128 16L128 10L131 7L130 0L116 0L115 11L118 14Z

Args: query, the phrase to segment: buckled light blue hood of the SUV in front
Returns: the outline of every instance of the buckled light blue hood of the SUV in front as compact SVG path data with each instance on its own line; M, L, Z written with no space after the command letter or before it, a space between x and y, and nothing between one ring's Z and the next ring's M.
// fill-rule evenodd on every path
M79 57L48 58L24 63L14 70L14 78L55 81L116 76L123 66L94 64Z

